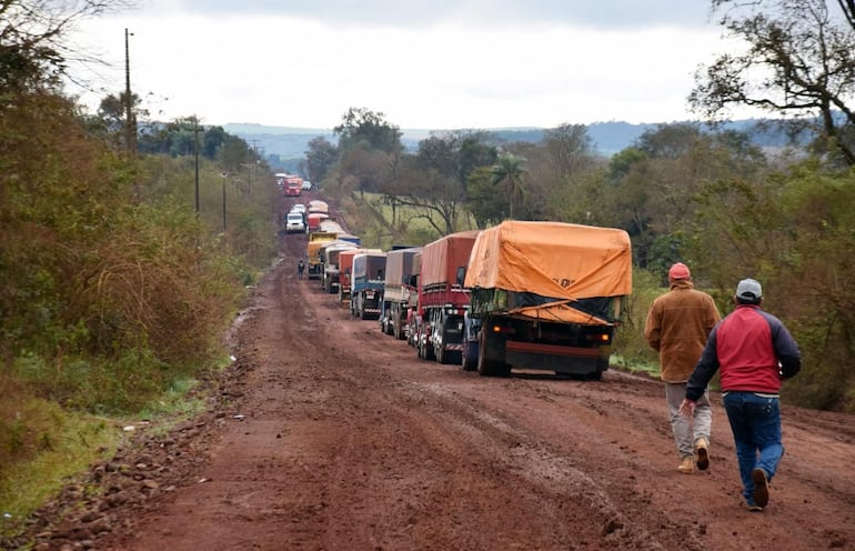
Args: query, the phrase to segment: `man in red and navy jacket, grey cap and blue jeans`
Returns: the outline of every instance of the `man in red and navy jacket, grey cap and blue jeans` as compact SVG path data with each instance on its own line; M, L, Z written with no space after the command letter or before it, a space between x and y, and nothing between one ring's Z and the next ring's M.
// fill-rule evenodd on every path
M802 369L798 344L781 320L760 309L762 302L758 281L740 281L734 295L736 310L710 333L680 407L682 414L691 415L710 380L722 370L724 409L750 511L762 511L768 503L768 483L784 454L781 381Z

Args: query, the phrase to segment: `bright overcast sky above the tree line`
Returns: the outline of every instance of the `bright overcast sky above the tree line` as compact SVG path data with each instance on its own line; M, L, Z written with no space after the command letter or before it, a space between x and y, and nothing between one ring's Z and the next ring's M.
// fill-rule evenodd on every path
M326 129L351 107L402 129L696 119L686 97L724 51L708 0L141 0L78 24L158 120Z

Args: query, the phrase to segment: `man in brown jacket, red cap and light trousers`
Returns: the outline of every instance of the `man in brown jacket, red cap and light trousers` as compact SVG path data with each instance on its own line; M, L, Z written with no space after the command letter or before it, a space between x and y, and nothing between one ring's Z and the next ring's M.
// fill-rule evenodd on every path
M692 283L688 267L677 262L668 270L670 290L651 304L644 337L660 353L671 430L680 453L677 470L691 473L710 467L710 431L713 412L707 393L697 401L692 418L680 414L686 382L704 351L706 338L721 315L713 298Z

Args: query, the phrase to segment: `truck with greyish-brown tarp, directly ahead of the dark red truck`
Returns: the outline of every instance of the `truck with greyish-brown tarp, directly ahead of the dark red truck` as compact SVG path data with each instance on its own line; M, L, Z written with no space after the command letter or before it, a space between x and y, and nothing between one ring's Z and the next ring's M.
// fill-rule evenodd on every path
M393 249L386 253L386 276L383 284L383 304L380 310L380 330L395 339L406 338L406 310L411 298L416 298L413 261L421 247ZM414 300L412 302L415 302Z

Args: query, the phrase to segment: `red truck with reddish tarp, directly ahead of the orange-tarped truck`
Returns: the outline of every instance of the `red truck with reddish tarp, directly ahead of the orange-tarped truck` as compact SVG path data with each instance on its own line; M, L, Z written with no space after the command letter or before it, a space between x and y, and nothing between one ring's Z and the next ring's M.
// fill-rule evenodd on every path
M470 303L463 282L479 233L452 233L422 249L418 307L409 327L419 358L440 363L462 361L463 313Z

